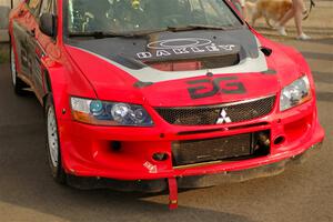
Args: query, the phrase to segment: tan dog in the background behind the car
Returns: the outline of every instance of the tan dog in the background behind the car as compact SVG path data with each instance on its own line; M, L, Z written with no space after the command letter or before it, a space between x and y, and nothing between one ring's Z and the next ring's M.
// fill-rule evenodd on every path
M292 8L292 0L258 0L256 2L245 3L248 21L251 20L252 26L256 19L264 18L266 23L273 28L271 20L279 21Z

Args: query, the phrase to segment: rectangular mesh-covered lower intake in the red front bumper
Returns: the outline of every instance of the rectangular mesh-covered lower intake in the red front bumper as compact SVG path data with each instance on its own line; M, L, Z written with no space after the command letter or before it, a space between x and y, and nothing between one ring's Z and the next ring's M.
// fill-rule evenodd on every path
M270 152L270 131L172 143L173 167L248 159Z

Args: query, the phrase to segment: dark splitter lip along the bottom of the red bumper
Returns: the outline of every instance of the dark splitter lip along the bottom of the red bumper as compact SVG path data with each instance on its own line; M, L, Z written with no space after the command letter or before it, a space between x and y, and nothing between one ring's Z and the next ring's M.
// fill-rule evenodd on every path
M321 147L322 142L312 145L309 150L299 155L252 169L176 178L176 184L179 189L208 188L222 183L243 182L255 178L278 175L282 173L289 164L303 163L309 157L315 154ZM105 178L78 178L74 175L68 175L68 183L71 186L83 190L105 188L128 192L162 192L168 190L167 179L121 181Z

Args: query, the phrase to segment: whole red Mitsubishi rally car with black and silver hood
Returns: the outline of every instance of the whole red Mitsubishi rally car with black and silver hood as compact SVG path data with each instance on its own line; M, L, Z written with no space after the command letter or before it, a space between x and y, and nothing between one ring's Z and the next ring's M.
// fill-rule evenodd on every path
M26 0L14 91L44 108L56 181L170 192L272 175L319 148L304 58L223 0Z

